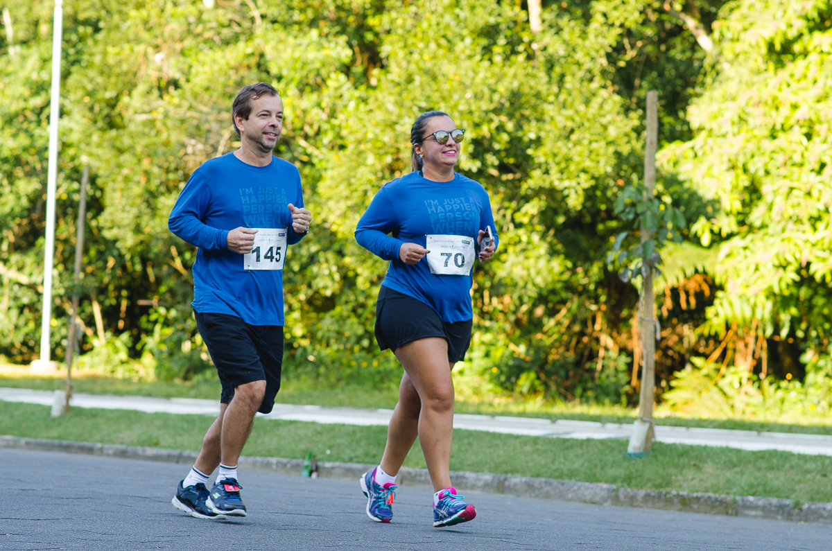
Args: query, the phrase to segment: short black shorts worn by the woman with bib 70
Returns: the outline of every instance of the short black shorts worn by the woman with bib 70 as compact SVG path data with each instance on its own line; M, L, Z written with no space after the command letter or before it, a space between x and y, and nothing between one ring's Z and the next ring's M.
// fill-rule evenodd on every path
M433 308L384 285L379 290L375 305L375 340L381 350L396 351L401 345L428 337L448 341L448 361L465 360L471 345L473 320L448 323L439 318Z

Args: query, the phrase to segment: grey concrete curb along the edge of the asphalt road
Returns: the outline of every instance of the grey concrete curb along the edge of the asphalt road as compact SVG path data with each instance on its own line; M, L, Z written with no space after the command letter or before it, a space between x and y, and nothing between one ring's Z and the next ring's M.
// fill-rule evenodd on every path
M69 454L106 455L123 459L144 459L166 463L191 464L196 453L176 449L140 448L114 444L67 442L0 436L0 449L35 449ZM240 464L249 469L269 470L280 474L300 476L302 459L276 457L241 457ZM324 479L357 480L375 465L355 463L318 463L318 476ZM569 480L536 479L503 474L452 472L460 488L488 494L508 494L518 497L577 501L587 504L616 505L685 511L688 513L726 514L757 519L793 520L832 524L832 503L805 503L795 506L789 499L733 497L717 494L665 492L661 490L617 488L612 484L571 482ZM402 468L398 482L404 486L430 487L425 469Z

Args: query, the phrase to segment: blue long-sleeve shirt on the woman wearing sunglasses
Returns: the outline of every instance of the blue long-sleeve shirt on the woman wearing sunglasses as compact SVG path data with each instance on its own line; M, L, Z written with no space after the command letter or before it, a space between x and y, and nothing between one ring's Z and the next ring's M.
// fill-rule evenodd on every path
M424 258L413 266L404 264L399 249L404 243L425 246L428 234L476 238L486 226L491 226L496 245L491 202L477 181L458 173L452 181L431 181L411 172L375 194L355 228L355 241L390 261L381 285L421 300L440 319L453 323L473 318L473 270L467 276L439 276Z

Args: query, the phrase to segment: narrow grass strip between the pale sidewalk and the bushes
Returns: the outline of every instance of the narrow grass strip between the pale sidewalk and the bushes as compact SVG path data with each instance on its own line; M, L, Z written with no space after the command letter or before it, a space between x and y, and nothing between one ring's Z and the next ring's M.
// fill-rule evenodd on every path
M74 380L75 391L89 394L144 395L165 398L204 398L218 400L220 383L215 374L202 376L194 381L134 381L102 376L82 376ZM63 388L58 377L32 377L28 375L0 375L0 386L37 390ZM277 395L283 404L314 404L325 406L349 406L356 408L393 409L397 401L397 390L373 389L363 385L322 386L316 381L285 377L284 385ZM544 419L577 419L602 423L630 424L634 410L621 406L572 405L541 403L537 400L500 399L493 401L457 401L457 413L488 415L522 415ZM807 434L832 434L832 419L826 423L816 419L806 424L762 422L749 419L689 419L662 414L656 416L657 424L685 427L706 427L710 429L760 430L770 432L794 432Z

